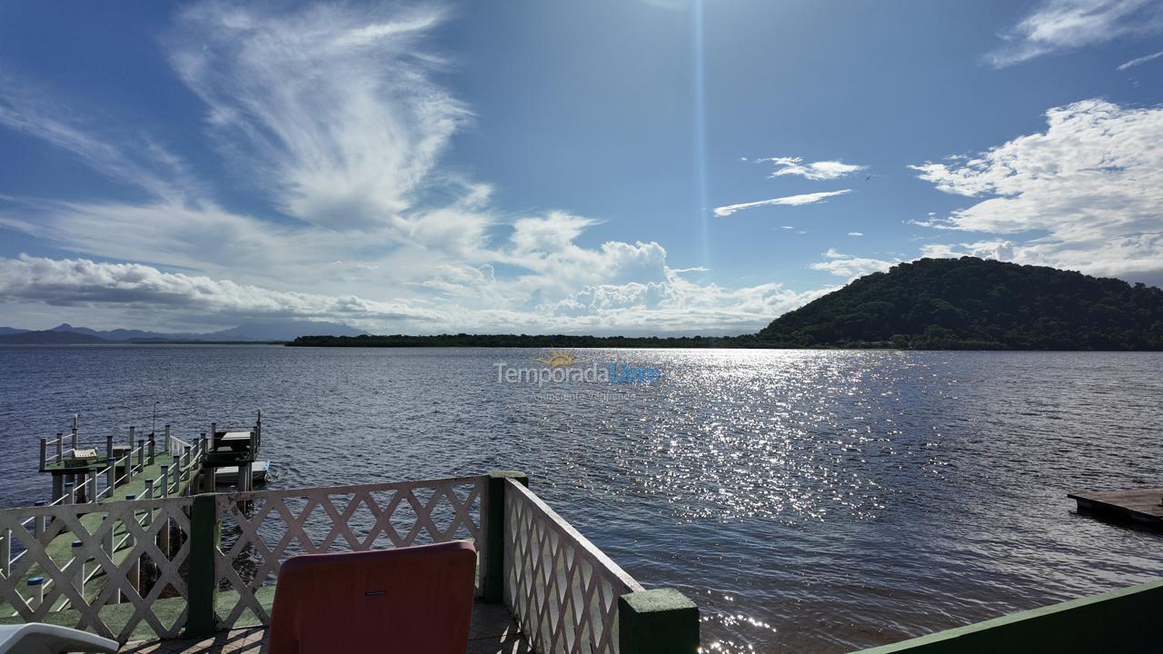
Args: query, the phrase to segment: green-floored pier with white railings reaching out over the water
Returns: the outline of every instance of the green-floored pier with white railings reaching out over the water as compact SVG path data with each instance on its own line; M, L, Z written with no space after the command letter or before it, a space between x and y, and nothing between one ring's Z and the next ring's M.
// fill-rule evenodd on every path
M98 442L85 442L74 415L70 432L58 432L56 438L41 439L38 468L41 472L52 476L52 491L49 500L37 502L36 506L52 510L80 505L77 513L79 527L88 534L104 534L100 543L104 555L114 566L127 564L126 582L134 589L140 589L143 576L150 570L143 573L137 562L140 555L133 555L127 561L136 543L135 534L124 519L114 519L112 526L102 528L102 521L113 516L102 514L100 507L106 503L122 500L165 499L213 492L215 471L226 463L238 465L240 488L250 490L250 462L257 453L261 422L262 418L254 429L236 432L220 432L212 424L209 438L202 433L190 443L171 435L169 425L165 425L162 434L144 434L130 427L127 441L106 434ZM220 441L228 435L233 435L234 440L227 439L223 446ZM214 457L222 461L215 461ZM242 485L243 474L245 485ZM140 514L135 512L134 521L148 526L158 518L158 511L143 511ZM51 588L62 583L62 578L55 578L48 568L67 570L67 581L86 602L102 597L109 580L94 553L81 547L78 538L83 536L69 526L62 528L62 525L55 525L55 519L56 517L49 516L29 518L21 520L15 529L0 528L0 578L19 581L19 585L30 595L29 604L33 606L40 606L42 597L52 597L47 609L59 612L71 609L77 599L51 592ZM156 546L164 556L171 556L180 542L171 543L172 529L169 528L169 520L165 521L166 527L158 529L156 534ZM35 552L30 553L29 547ZM22 562L26 557L29 561ZM113 603L124 600L123 591L113 593ZM0 620L10 617L14 610L10 597L0 593Z

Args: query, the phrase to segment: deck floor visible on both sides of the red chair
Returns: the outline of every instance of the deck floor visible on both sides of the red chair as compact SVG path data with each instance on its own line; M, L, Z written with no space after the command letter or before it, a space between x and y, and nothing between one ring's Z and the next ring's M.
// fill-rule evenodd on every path
M121 654L265 654L265 641L266 630L251 627L205 639L127 642ZM533 654L533 649L505 606L478 600L472 606L466 654Z

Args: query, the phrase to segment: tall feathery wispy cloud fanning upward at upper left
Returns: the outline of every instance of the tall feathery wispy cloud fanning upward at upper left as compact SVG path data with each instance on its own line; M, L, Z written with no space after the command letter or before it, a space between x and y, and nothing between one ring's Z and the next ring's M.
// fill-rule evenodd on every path
M267 14L205 2L179 14L171 61L207 127L277 207L330 229L392 225L416 204L468 108L420 47L443 12L381 5Z

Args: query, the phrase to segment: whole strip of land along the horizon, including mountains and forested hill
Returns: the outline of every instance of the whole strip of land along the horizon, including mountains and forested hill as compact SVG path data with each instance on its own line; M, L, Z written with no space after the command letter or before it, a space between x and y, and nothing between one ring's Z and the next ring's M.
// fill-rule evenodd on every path
M313 333L308 329L326 329L330 335L301 335ZM63 324L35 332L0 327L0 344L1163 350L1163 290L1047 266L975 257L922 258L854 279L780 315L758 333L736 336L371 335L342 324L312 321L164 334L98 332Z

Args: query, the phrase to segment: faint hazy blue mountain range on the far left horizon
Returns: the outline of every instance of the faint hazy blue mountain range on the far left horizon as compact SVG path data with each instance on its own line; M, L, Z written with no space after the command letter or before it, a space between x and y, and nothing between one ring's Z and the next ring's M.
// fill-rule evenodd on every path
M229 329L209 333L162 333L142 329L90 329L73 327L67 322L51 329L20 329L0 327L0 344L86 344L86 343L157 343L173 341L207 342L263 342L293 341L299 336L334 335L358 336L358 329L338 322L312 320L284 320L270 322L247 322Z

